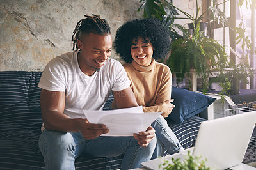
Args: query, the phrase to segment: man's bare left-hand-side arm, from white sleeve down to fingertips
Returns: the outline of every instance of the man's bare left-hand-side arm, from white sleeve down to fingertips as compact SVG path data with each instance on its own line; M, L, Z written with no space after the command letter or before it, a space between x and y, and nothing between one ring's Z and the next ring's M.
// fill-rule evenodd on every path
M41 90L40 107L42 120L47 130L81 132L84 139L93 139L109 130L105 125L89 123L87 119L72 119L63 114L65 92Z

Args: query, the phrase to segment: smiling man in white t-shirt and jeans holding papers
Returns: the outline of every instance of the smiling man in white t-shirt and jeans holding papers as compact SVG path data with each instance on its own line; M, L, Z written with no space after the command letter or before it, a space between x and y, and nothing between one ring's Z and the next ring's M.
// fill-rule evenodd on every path
M45 169L74 169L82 153L97 157L124 154L121 169L140 167L154 152L154 128L134 137L101 137L109 131L106 126L89 123L82 112L102 109L111 91L119 109L138 106L124 68L109 58L108 23L97 15L84 16L72 38L76 51L52 59L38 84L45 128L39 147Z

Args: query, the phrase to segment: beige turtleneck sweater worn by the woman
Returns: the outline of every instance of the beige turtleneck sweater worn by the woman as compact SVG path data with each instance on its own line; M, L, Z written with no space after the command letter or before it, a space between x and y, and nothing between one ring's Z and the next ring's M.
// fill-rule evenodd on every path
M172 90L172 73L170 68L152 58L149 66L132 63L124 64L131 89L134 92L138 105L142 105L144 112L163 112L166 117L169 114L168 105L164 103L170 100ZM115 102L112 105L116 109Z

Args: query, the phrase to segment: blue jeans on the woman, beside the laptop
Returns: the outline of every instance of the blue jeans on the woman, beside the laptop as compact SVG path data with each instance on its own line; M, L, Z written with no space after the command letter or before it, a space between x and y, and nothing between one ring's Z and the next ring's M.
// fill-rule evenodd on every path
M151 126L156 130L157 137L156 149L153 153L152 159L163 157L164 148L166 148L170 155L177 151L184 150L163 116L159 116Z

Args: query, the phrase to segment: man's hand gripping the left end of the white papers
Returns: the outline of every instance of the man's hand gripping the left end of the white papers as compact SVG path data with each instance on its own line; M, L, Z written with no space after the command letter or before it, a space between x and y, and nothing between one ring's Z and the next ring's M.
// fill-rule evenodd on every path
M83 135L84 139L94 139L102 134L109 132L106 125L89 123L87 119L81 119L79 121L79 132Z

